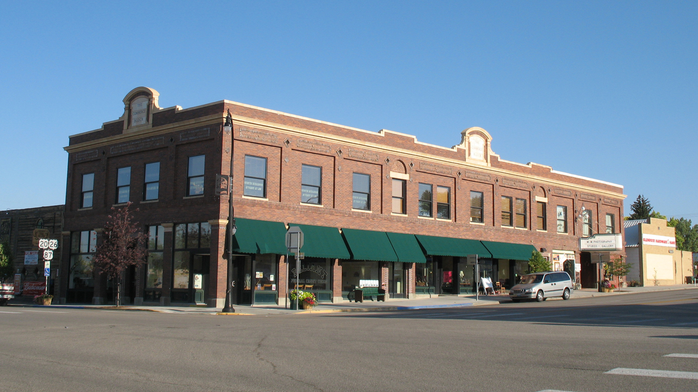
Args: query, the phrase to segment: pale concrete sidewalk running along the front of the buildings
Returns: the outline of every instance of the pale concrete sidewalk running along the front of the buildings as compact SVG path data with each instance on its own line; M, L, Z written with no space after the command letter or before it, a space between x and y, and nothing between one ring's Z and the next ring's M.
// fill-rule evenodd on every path
M596 289L574 290L571 299L589 298L597 296L614 296L622 294L635 294L644 292L662 292L669 290L682 290L698 288L693 285L674 286L650 286L650 287L623 287L610 293L600 293ZM141 312L161 312L178 313L190 315L298 315L309 313L332 313L332 312L380 312L389 310L417 310L417 309L438 309L438 308L466 308L469 306L495 305L498 303L510 302L508 295L480 296L475 300L475 296L433 296L427 299L390 299L386 302L364 301L355 303L343 301L341 303L323 303L313 308L313 310L290 310L281 306L235 306L235 313L221 313L221 308L201 308L198 306L113 306L102 305L50 305L40 306L31 302L31 299L17 297L11 299L8 306L36 307L36 308L68 308L68 309L94 309L94 310L126 310Z

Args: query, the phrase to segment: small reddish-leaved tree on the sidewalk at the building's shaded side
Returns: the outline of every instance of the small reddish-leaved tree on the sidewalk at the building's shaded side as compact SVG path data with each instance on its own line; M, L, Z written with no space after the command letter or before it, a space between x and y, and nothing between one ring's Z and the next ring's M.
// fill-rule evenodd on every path
M116 282L116 306L119 306L121 301L121 273L129 266L144 264L147 256L147 235L131 221L133 216L131 211L128 211L130 206L131 202L119 210L112 207L112 215L107 216L104 226L102 242L97 246L94 255L96 271L104 273L107 278Z

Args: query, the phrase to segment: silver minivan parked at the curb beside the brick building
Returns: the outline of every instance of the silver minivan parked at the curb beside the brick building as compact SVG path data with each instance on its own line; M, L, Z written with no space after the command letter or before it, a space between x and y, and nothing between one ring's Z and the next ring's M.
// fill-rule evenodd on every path
M561 296L567 300L570 299L573 288L572 279L566 272L530 273L521 276L521 282L514 285L509 291L509 298L514 302L519 302L522 299L535 299L542 302L551 296Z

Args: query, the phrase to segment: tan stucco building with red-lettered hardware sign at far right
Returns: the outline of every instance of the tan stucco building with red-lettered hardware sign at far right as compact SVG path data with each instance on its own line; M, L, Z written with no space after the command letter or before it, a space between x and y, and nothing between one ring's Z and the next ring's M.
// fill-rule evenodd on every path
M643 286L685 284L692 276L692 253L676 250L676 232L667 220L626 220L625 253L632 265L626 278Z

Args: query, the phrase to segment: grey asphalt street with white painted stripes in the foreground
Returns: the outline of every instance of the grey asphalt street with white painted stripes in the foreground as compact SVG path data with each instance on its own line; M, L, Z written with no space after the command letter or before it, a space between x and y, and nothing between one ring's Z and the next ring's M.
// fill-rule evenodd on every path
M698 289L225 316L0 308L0 391L698 391Z

